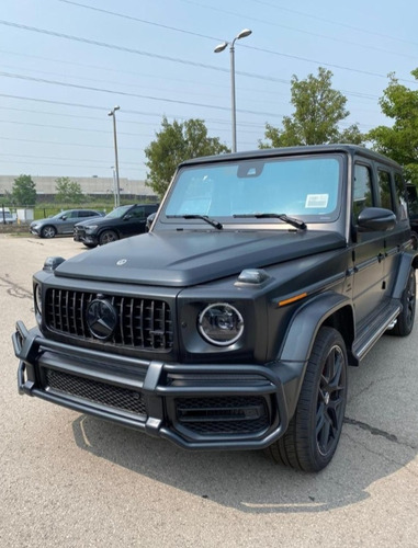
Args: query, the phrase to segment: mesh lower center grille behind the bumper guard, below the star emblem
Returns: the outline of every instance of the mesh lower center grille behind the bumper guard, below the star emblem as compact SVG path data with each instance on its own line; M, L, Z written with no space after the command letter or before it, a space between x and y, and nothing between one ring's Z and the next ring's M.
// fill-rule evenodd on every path
M68 373L45 368L45 389L76 396L92 403L101 403L106 407L128 411L131 413L146 415L147 409L143 396L135 390L106 385L98 380L76 377Z

